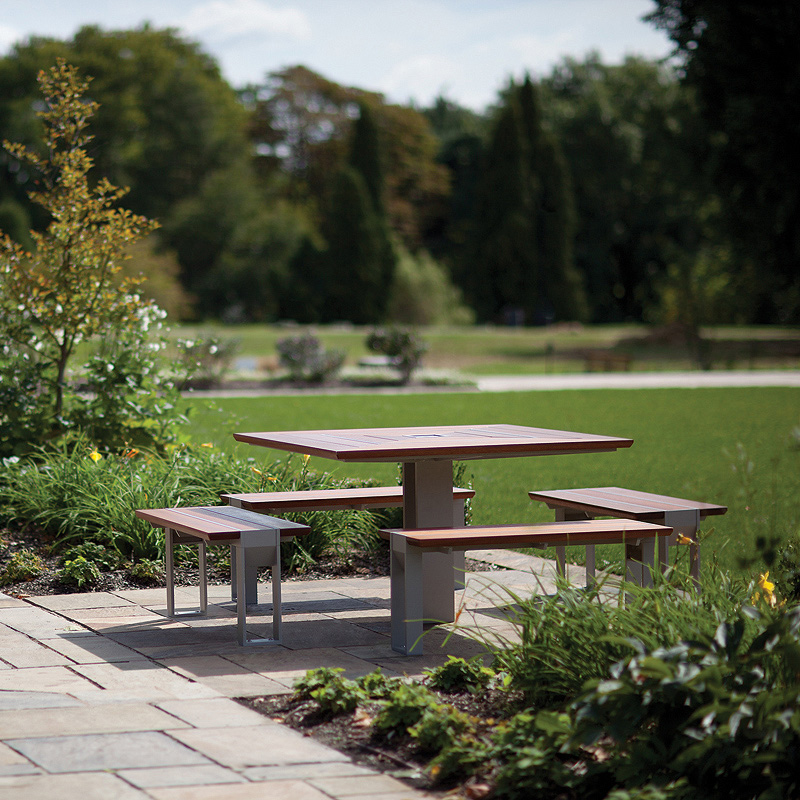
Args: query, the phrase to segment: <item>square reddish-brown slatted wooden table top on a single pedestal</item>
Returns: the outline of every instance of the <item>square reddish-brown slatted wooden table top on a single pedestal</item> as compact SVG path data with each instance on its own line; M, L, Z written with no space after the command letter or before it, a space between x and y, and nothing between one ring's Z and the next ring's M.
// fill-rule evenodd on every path
M633 439L524 425L436 425L234 433L239 442L336 461L467 460L610 452Z

